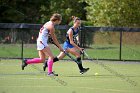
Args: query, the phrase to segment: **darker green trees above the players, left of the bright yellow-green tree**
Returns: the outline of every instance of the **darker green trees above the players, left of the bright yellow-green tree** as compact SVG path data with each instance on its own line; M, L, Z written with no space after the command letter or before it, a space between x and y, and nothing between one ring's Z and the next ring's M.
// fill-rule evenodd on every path
M0 22L45 23L53 13L63 16L63 24L70 16L86 19L85 2L79 0L1 0Z

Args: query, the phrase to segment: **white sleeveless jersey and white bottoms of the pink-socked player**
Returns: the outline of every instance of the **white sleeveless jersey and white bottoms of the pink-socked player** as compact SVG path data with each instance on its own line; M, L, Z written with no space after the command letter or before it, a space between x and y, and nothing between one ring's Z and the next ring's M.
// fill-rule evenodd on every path
M48 46L47 42L48 42L49 30L46 28L45 25L47 25L49 22L45 23L40 29L39 36L37 38L37 50L42 50L46 46Z

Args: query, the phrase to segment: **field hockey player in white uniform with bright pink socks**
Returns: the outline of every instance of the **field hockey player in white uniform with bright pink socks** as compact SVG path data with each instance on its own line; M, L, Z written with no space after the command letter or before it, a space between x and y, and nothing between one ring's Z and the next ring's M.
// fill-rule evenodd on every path
M28 64L37 64L37 63L44 63L46 57L48 56L48 76L58 76L58 74L55 74L52 71L53 68L53 59L54 56L50 50L50 47L48 45L48 38L49 35L52 37L54 43L58 46L60 51L63 51L63 48L60 46L56 35L55 35L55 28L54 25L60 24L62 20L62 16L60 14L53 14L50 18L49 22L46 22L42 28L40 29L39 36L37 39L37 50L39 53L40 58L33 58L33 59L23 59L22 61L22 70L28 65Z

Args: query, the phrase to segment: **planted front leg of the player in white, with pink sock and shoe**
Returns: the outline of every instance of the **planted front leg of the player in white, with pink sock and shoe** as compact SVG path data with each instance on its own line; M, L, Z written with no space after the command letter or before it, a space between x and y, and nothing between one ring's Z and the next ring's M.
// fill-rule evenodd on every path
M54 59L54 56L49 48L49 46L47 46L46 48L44 48L42 50L44 52L45 55L48 55L48 76L58 76L58 74L54 74L52 69L53 69L53 59Z

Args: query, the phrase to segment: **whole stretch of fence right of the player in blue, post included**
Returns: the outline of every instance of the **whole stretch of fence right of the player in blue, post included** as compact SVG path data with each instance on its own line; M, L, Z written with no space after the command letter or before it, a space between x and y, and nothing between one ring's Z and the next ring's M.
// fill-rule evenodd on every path
M138 28L83 27L81 32L81 46L93 59L140 60Z

